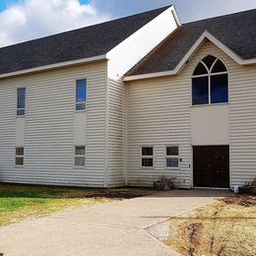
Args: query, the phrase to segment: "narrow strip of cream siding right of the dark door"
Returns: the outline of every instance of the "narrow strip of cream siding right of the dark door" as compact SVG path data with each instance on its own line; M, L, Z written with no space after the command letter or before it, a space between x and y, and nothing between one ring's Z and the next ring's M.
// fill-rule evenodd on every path
M256 177L256 65L229 61L231 187Z

